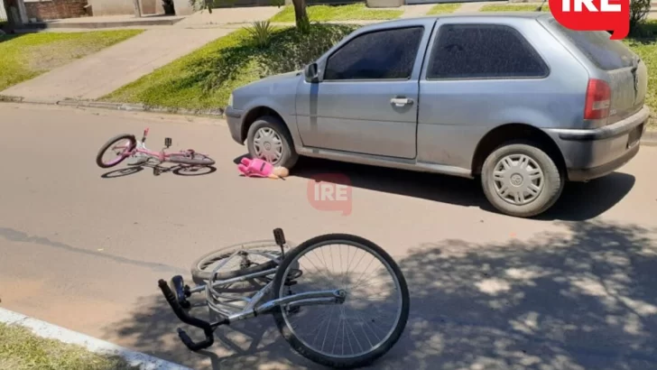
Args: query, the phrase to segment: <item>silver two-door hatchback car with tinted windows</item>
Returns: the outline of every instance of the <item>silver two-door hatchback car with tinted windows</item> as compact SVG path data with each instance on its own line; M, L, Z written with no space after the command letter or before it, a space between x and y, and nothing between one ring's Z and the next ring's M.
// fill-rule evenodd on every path
M551 14L451 14L359 28L303 71L233 91L237 143L288 168L300 155L480 178L515 217L564 182L604 176L639 151L643 61L607 32Z

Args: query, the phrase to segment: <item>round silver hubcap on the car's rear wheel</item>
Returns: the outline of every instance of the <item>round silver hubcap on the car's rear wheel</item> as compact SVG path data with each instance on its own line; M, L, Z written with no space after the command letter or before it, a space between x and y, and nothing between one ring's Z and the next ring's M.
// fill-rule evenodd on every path
M506 202L523 206L543 190L544 175L538 162L525 154L507 155L495 164L495 192Z

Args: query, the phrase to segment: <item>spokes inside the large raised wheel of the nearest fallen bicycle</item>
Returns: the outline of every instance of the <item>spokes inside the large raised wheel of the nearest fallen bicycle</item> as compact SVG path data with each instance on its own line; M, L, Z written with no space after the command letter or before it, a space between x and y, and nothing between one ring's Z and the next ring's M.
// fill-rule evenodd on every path
M325 356L356 357L393 335L401 315L401 291L396 275L378 254L338 242L310 247L296 263L304 273L291 288L295 292L336 287L347 292L346 301L330 308L303 306L295 313L284 311L286 325L301 343Z

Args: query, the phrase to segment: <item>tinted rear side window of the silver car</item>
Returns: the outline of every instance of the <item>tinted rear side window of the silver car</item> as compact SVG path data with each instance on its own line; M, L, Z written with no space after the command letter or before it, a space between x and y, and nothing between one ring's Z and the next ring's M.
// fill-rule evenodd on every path
M427 79L542 78L549 69L523 35L502 24L444 24Z

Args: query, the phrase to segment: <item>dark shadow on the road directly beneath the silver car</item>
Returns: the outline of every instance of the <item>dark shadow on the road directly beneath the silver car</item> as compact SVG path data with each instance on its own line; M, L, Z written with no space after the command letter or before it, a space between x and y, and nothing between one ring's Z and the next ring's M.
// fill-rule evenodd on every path
M488 203L479 180L434 173L385 169L361 164L301 158L291 175L313 179L323 173L346 175L350 186L407 197L433 200L496 212ZM634 187L634 176L614 172L587 183L569 182L557 203L541 220L582 221L612 208Z

